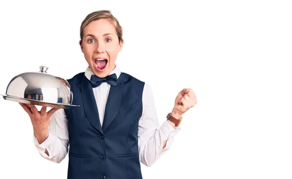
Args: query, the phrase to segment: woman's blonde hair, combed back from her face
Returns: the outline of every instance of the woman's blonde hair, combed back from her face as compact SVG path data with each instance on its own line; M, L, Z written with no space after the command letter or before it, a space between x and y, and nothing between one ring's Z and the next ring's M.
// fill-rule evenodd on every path
M119 38L119 42L123 41L123 28L120 26L120 23L117 18L112 16L111 11L108 10L101 10L101 11L95 11L87 15L87 17L82 21L81 26L80 26L80 38L81 38L81 43L82 43L82 38L84 36L83 30L84 28L91 23L94 20L99 20L99 19L108 19L110 23L115 27L116 33Z

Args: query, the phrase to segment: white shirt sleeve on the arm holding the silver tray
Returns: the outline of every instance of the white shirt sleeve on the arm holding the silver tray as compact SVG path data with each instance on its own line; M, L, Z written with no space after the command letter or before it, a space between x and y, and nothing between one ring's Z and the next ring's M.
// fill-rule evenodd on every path
M50 119L49 137L41 144L38 143L33 134L33 142L39 154L56 163L60 163L68 153L69 146L69 126L64 109L58 109ZM45 153L47 149L49 156Z

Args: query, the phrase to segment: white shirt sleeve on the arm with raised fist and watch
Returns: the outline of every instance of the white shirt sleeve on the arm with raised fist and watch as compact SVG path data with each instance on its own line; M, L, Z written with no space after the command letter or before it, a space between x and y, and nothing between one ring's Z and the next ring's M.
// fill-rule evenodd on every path
M153 92L148 83L144 86L142 102L143 111L138 126L139 159L146 166L151 166L170 148L181 127L173 128L166 117L159 126ZM167 143L163 148L165 140Z

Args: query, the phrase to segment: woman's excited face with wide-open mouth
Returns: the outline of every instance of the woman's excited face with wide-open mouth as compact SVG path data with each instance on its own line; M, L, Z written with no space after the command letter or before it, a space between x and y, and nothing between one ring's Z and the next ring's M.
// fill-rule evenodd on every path
M101 78L108 76L123 47L114 26L107 19L95 20L84 28L83 34L80 47L91 71Z

